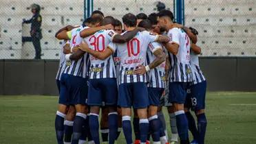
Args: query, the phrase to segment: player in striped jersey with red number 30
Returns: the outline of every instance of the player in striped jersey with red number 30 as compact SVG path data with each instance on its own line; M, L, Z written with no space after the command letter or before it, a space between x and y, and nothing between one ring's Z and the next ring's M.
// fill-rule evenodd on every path
M101 25L114 25L114 22L113 17L107 16L102 21ZM112 26L112 29L114 29L114 26ZM115 34L112 29L100 30L92 36L86 37L84 43L84 45L89 44L89 47L87 47L85 51L91 54L91 66L89 68L88 80L89 97L87 103L90 106L89 127L95 143L100 143L98 136L98 113L103 102L105 102L105 106L107 106L109 110L109 143L114 143L117 134L116 99L118 91L116 86L116 69L113 57L111 56L112 52L107 51L107 45L111 41L115 43L125 43L133 38L140 30L134 29L121 36ZM81 47L83 47L83 45L81 45ZM81 51L81 49L78 51L85 53ZM103 56L101 54L103 51L109 53ZM94 55L94 52L98 52L100 56ZM74 56L76 55L77 53L74 53ZM74 56L71 56L71 58Z

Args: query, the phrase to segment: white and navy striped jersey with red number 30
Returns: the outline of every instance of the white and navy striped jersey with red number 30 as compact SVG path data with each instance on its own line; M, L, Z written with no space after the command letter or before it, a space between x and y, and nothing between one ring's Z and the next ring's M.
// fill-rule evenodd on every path
M100 30L92 36L85 38L89 48L95 51L105 51L109 43L113 40L116 33L112 29ZM105 60L99 60L89 55L91 66L89 68L89 79L116 78L116 67L113 56Z

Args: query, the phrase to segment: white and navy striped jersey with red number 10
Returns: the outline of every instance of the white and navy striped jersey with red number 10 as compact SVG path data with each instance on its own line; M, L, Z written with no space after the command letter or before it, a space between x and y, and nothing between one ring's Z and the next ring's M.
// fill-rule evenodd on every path
M122 33L125 34L125 33ZM158 36L150 32L138 32L127 43L110 43L109 48L118 51L120 58L119 84L147 82L147 75L135 75L134 70L140 64L145 65L149 43L158 39Z

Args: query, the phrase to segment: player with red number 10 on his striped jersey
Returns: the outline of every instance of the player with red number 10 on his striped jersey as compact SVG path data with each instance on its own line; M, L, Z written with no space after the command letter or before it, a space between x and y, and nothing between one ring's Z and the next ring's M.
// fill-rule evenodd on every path
M134 14L126 14L122 18L125 25L125 34L131 33L136 29L136 16ZM125 35L122 34L122 35ZM127 143L132 143L131 138L131 106L138 108L140 121L140 128L142 129L142 143L147 140L147 132L149 128L149 121L147 120L147 86L145 73L140 75L136 73L146 72L145 66L141 65L145 62L145 56L147 53L147 46L153 41L165 42L169 41L169 38L164 36L156 36L149 34L149 32L138 32L136 36L129 40L128 43L117 44L110 43L108 49L103 52L94 51L92 49L85 49L96 58L107 58L114 51L118 51L120 56L120 78L119 78L119 96L118 105L122 107L122 128L125 133ZM127 46L128 45L128 46ZM86 47L81 45L81 47ZM138 71L136 68L141 67ZM147 66L147 70L151 67ZM153 67L152 67L153 68ZM144 91L141 91L142 90ZM142 119L144 118L144 119Z

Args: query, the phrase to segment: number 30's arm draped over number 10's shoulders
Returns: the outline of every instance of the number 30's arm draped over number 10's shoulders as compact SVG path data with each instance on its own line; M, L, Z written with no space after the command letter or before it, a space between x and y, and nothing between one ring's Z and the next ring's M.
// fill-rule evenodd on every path
M126 32L123 35L115 34L112 42L114 43L127 43L131 38L134 38L138 32L144 31L142 27L136 27L136 29Z

